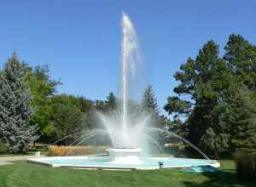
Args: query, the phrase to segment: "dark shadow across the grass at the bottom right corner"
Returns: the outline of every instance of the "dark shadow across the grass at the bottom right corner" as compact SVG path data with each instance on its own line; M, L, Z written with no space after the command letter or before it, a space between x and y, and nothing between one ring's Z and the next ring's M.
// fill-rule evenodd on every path
M216 173L202 173L207 180L203 183L191 181L183 181L183 184L188 187L255 187L256 181L240 181L234 170L220 170Z

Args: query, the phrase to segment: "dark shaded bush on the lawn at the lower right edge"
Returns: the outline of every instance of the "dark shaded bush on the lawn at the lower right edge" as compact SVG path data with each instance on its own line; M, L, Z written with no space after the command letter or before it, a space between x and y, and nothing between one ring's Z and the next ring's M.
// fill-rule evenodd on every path
M256 151L238 150L234 156L238 178L256 180Z

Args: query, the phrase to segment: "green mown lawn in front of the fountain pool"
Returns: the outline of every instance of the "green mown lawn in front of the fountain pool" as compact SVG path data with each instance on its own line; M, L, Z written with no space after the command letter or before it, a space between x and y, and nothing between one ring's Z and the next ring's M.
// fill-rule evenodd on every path
M225 187L251 186L256 182L236 179L233 161L220 161L218 173L183 173L178 170L104 171L52 168L26 161L0 167L1 187L101 187L101 186L189 186Z

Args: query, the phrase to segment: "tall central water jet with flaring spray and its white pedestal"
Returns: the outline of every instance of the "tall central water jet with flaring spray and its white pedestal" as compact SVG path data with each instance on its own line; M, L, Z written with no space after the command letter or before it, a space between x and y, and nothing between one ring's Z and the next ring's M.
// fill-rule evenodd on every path
M107 150L110 161L135 163L140 161L142 155L142 149L139 148L142 146L140 135L144 133L144 127L149 118L142 114L142 117L137 119L136 124L133 125L131 124L131 119L129 119L129 111L127 110L127 80L130 76L134 77L139 53L136 31L131 24L131 20L124 13L122 26L122 114L117 116L99 114L99 117L108 130L113 144L113 148Z

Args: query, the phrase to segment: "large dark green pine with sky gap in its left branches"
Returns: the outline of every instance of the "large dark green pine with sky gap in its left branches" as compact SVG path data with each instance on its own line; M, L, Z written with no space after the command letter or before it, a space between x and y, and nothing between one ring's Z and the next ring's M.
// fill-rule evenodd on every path
M230 136L229 128L221 116L234 82L230 66L218 57L218 45L209 41L195 60L189 58L180 69L174 75L181 82L174 88L180 97L168 97L165 110L175 117L187 117L186 138L193 144L202 149L209 148L204 150L213 155L216 155L216 149L226 151L227 141L217 138ZM209 147L207 142L212 146Z

